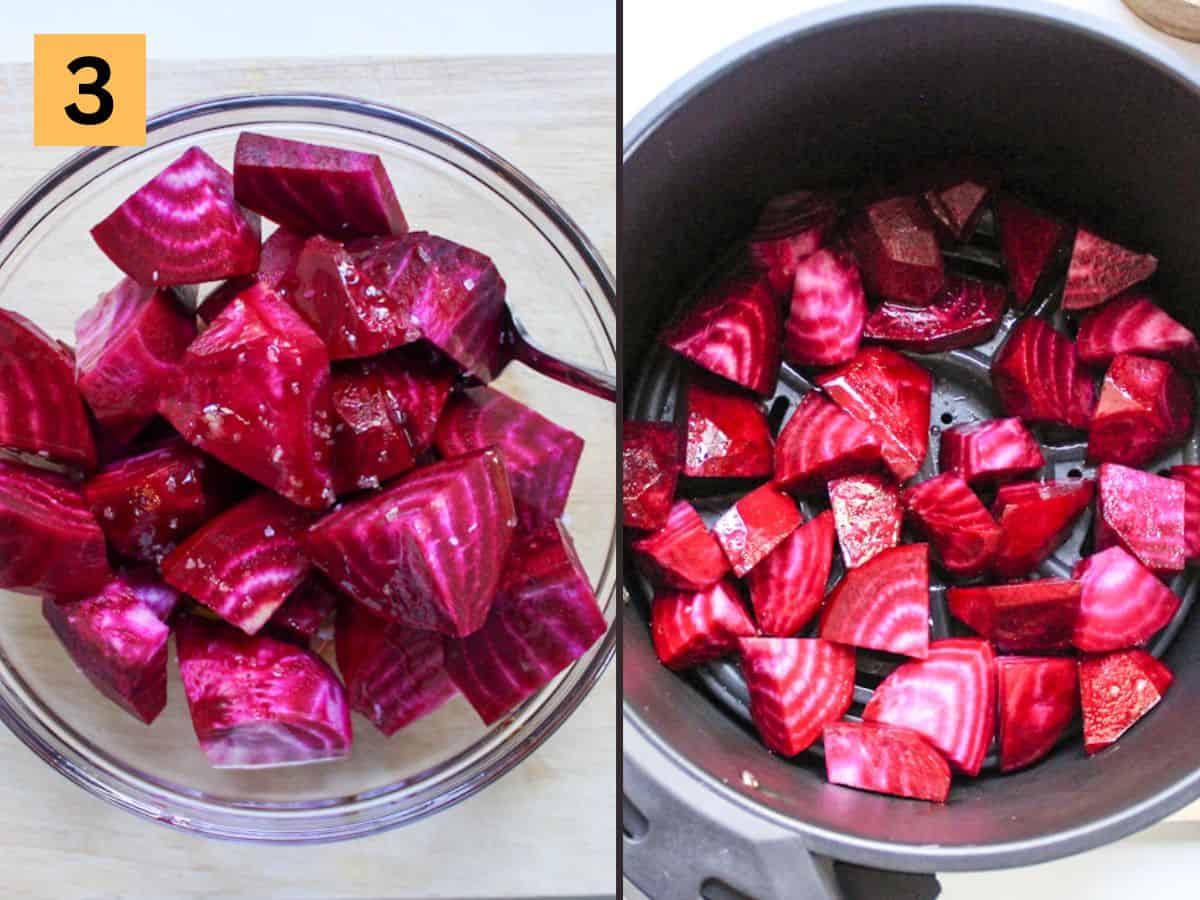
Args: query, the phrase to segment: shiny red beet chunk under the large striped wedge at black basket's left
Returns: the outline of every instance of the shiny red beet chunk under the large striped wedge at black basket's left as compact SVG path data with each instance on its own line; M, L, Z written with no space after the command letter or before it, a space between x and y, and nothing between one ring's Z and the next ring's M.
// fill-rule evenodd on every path
M694 378L677 407L688 478L769 478L774 452L767 414L744 390Z

